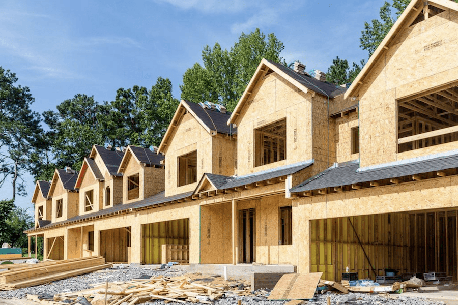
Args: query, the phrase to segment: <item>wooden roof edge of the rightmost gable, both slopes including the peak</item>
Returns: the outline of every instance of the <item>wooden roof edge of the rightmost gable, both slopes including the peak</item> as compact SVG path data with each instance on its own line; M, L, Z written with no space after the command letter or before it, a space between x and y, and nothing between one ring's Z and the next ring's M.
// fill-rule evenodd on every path
M455 3L451 0L428 0L426 2L427 5L433 5L440 9L451 9L454 11L458 11L458 3ZM382 40L380 45L374 51L372 56L370 56L369 60L367 61L366 65L364 65L363 69L359 72L358 76L356 76L355 80L352 82L351 86L348 88L347 92L345 93L344 98L347 99L348 97L358 96L358 90L361 88L361 85L364 83L364 80L370 74L373 67L375 67L376 63L381 59L383 54L389 49L390 44L395 39L396 35L402 31L405 26L409 26L414 22L414 20L422 13L422 10L425 6L425 2L423 0L412 0L404 12L399 16L396 20L394 25L391 27L388 34Z

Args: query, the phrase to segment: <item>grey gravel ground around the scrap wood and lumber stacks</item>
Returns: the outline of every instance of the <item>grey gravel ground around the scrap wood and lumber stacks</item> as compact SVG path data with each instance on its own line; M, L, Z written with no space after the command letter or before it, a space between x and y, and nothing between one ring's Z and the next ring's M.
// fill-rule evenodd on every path
M96 283L104 282L130 282L133 279L140 277L160 277L163 276L168 278L180 277L189 274L189 266L170 266L160 268L161 265L125 265L115 264L112 268L99 270L96 272L88 273L81 276L71 277L64 280L59 280L43 285L37 285L33 287L15 289L10 291L0 291L0 305L37 305L39 303L30 300L30 295L55 295L55 294L71 294L71 292L78 292L81 290L87 290ZM210 276L209 276L210 277ZM217 275L213 276L218 281L223 281L224 277ZM245 280L246 283L246 280ZM456 286L455 286L456 287ZM246 288L246 287L245 287ZM283 305L288 300L268 300L269 289L261 289L259 291L244 293L242 295L237 293L226 292L218 299L211 301L215 305ZM27 295L29 297L27 298ZM168 303L167 300L151 300L147 301L147 304L158 304L162 305ZM70 302L62 302L70 303ZM175 302L172 302L175 303ZM191 302L188 302L191 303ZM205 303L205 302L204 302ZM301 304L392 304L392 305L436 305L436 304L447 304L447 305L458 305L458 289L455 290L440 290L431 291L427 293L420 293L417 291L398 293L352 293L342 294L339 291L328 291L323 294L317 293L313 299L304 300ZM44 302L42 302L44 304ZM75 303L77 304L77 303ZM123 302L120 304L128 304ZM290 303L291 304L291 303ZM295 302L295 305L299 304L299 301Z

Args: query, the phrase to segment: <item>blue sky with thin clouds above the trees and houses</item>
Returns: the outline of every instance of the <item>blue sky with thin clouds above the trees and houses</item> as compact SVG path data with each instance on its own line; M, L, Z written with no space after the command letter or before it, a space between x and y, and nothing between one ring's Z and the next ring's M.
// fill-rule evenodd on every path
M16 73L42 113L75 94L111 101L120 87L151 87L169 78L174 96L186 69L201 63L205 45L231 48L256 27L274 33L306 70L324 72L339 56L367 59L359 47L364 22L378 18L383 0L367 1L3 1L0 66ZM32 207L34 183L16 204ZM0 199L11 198L0 189Z

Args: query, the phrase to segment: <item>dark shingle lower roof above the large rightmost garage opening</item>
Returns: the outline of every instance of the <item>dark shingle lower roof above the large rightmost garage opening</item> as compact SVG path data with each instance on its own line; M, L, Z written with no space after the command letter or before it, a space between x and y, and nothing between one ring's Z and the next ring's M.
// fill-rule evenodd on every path
M324 172L292 188L292 193L319 190L382 179L399 178L458 167L458 155L436 157L427 160L391 165L358 171L359 163L331 167Z

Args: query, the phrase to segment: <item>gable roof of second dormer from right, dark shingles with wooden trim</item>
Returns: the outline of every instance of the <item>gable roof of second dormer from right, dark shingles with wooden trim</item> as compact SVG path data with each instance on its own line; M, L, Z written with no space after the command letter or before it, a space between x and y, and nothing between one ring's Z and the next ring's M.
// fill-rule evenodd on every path
M234 112L231 114L230 119L227 121L227 124L235 124L237 122L237 118L240 115L246 102L248 101L248 98L251 95L251 91L253 90L257 81L259 81L259 79L261 79L267 73L272 72L276 72L279 76L289 81L292 85L296 86L304 93L307 93L310 90L314 93L327 96L329 98L335 98L341 94L344 94L347 90L345 87L341 87L327 81L320 81L309 75L299 74L284 65L263 58L259 66L257 66L253 77L251 77L245 92L237 103L237 106L234 109Z

